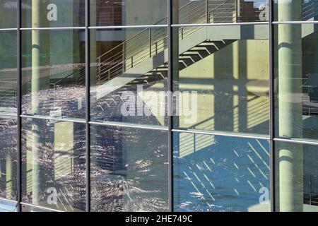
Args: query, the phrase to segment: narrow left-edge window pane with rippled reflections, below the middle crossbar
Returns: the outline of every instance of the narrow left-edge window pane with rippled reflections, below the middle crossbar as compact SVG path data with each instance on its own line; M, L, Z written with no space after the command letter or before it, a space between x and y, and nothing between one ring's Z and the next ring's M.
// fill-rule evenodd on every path
M17 136L16 119L0 116L0 198L10 200L17 195Z

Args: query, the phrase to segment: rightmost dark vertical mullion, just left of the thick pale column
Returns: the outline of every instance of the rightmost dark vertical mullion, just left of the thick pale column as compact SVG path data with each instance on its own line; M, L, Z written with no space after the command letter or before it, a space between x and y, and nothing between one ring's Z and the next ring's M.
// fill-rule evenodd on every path
M269 0L269 98L270 98L270 115L269 115L269 136L271 148L271 212L275 212L275 144L273 138L275 136L275 117L274 117L274 40L273 40L273 1Z

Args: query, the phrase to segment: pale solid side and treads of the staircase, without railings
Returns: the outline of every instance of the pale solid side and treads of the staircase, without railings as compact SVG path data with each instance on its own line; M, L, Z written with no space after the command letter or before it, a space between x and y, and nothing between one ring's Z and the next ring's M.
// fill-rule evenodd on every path
M254 25L257 30L264 30L264 25ZM226 39L218 36L219 28L199 28L192 34L179 40L179 70L186 69L188 66L195 64L197 61L204 59L214 52L226 47L228 44L241 39L240 28L235 26L231 34L223 34ZM258 32L259 33L259 32ZM263 34L264 33L264 34ZM245 35L246 36L246 35ZM245 37L246 39L247 37ZM252 37L251 37L252 38ZM261 32L257 39L266 39L266 32ZM141 63L126 70L124 73L115 76L110 81L102 85L98 85L95 89L96 99L99 100L105 95L112 93L128 84L128 86L136 84L148 84L155 81L163 80L167 77L167 59L168 51L156 54L153 57L145 59Z

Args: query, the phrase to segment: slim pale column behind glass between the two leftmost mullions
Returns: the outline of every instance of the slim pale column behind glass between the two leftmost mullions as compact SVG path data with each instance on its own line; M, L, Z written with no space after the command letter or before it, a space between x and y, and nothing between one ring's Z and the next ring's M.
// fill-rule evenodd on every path
M32 27L40 25L40 0L32 1ZM38 112L38 95L40 91L40 30L32 30L32 110L33 114ZM34 120L37 121L37 120ZM39 160L38 145L40 141L39 126L32 124L32 200L33 204L38 204L39 196Z

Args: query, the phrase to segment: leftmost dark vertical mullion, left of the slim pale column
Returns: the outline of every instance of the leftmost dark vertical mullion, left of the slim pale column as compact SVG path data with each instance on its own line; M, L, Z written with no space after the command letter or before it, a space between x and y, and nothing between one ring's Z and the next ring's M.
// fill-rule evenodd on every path
M17 166L17 210L18 212L21 212L21 205L20 202L22 201L22 144L21 144L21 81L22 81L22 75L21 75L21 0L17 1L17 33L16 33L16 46L17 46L17 85L16 85L16 104L17 104L17 123L18 123L18 136L17 136L17 148L18 148L18 166Z

